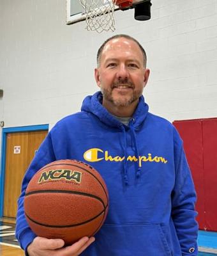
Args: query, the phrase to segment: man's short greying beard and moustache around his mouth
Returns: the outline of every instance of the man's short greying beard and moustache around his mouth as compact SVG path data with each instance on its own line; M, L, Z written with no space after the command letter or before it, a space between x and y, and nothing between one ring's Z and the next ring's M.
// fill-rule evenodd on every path
M128 95L120 95L118 98L114 99L112 96L112 91L114 88L118 88L119 86L124 85L131 88L132 93L129 97ZM118 81L117 83L112 84L112 88L107 90L101 86L101 93L103 94L103 98L108 100L109 102L113 103L117 107L128 107L130 104L138 100L138 98L142 95L142 91L135 90L135 86L130 81Z

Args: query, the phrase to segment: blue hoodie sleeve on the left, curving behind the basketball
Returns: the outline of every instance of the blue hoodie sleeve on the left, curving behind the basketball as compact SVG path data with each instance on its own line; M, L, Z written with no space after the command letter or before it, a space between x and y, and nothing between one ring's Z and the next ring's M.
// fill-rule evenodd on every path
M22 180L21 195L18 199L15 236L17 237L21 248L24 249L25 252L27 246L33 241L34 237L36 237L36 234L34 234L29 228L29 225L24 215L24 196L26 193L26 188L34 173L40 170L41 167L55 160L56 157L54 155L54 150L52 146L52 138L49 133L43 143L41 143L41 146L38 149L36 156L34 157L33 161L31 162L29 168L26 171L26 174L24 175L24 179Z

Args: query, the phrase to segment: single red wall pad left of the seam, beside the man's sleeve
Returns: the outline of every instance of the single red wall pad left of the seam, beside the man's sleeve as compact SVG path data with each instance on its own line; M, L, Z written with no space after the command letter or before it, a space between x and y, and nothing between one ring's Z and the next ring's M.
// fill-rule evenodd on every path
M179 131L184 143L184 151L191 169L195 189L197 191L196 210L199 228L206 227L204 209L204 169L203 169L203 141L202 120L175 121L174 126Z

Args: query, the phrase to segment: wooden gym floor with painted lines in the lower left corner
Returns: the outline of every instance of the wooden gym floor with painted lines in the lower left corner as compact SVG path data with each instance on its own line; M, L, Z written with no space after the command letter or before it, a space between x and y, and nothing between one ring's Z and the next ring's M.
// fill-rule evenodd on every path
M15 237L15 224L0 221L0 255L1 256L24 256Z

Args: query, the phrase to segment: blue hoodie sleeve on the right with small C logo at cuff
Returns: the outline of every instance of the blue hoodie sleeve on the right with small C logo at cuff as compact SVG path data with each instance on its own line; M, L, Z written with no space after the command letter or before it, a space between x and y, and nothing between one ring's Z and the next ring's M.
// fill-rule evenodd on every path
M176 181L172 191L171 216L181 245L182 255L196 256L198 254L198 224L195 220L197 216L195 211L196 193L180 138L179 142L177 154L175 149Z

